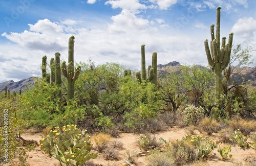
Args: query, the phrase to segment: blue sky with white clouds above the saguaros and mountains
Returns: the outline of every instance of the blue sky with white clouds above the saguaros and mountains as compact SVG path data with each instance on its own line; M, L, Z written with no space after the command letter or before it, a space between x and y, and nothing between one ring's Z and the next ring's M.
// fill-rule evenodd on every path
M218 6L221 37L233 32L234 44L256 49L254 0L3 0L0 82L40 76L44 55L50 61L59 52L67 60L71 35L76 62L118 62L140 70L140 46L146 44L146 65L155 51L158 64L207 66L204 40Z

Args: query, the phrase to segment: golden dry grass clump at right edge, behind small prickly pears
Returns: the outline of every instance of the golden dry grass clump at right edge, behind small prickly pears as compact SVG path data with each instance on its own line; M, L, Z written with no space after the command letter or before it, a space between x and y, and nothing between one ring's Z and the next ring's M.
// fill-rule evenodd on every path
M249 135L250 132L256 131L256 121L248 121L242 118L236 118L229 122L229 127L233 130L240 130L244 135Z

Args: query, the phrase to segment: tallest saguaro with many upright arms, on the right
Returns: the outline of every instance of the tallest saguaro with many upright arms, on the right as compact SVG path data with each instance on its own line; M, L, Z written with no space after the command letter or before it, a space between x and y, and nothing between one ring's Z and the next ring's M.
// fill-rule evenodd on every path
M208 45L208 40L204 41L205 52L207 55L207 60L209 67L215 73L215 90L216 90L216 99L220 101L221 94L221 75L222 70L224 70L230 61L230 54L232 49L233 33L229 34L228 43L226 44L226 38L223 37L220 41L220 19L221 19L221 7L217 8L216 11L216 37L214 36L214 27L212 24L210 26L210 49Z

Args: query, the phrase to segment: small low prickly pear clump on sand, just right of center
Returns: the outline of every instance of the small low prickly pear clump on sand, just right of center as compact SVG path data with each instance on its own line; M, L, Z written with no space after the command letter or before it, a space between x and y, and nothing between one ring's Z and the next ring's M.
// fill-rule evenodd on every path
M141 149L150 150L158 148L161 145L161 142L155 135L152 136L150 133L147 133L139 135L138 144Z

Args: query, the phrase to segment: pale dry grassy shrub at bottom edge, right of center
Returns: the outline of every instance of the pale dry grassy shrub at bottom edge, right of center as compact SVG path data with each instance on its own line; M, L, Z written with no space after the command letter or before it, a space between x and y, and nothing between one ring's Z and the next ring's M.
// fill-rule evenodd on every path
M173 157L170 156L168 152L160 152L159 150L151 152L149 156L146 157L147 166L174 166L176 165Z

